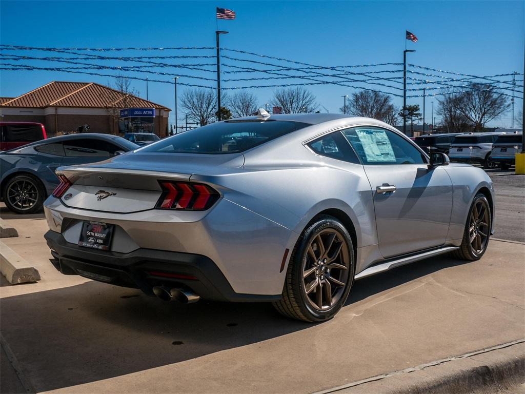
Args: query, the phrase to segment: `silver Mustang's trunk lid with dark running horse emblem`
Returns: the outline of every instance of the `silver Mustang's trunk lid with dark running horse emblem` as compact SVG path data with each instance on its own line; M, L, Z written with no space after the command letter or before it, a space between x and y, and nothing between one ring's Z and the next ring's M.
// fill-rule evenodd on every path
M190 181L193 174L231 172L242 167L242 154L129 153L80 166L60 167L72 183L61 201L71 208L132 213L155 208L159 180Z

